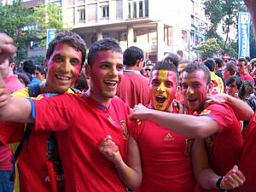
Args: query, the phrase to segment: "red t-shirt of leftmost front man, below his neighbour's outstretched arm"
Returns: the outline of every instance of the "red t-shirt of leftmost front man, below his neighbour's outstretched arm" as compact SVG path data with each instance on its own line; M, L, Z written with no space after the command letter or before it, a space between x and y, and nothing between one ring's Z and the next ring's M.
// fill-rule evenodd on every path
M16 167L15 189L20 192L49 192L50 179L47 171L47 142L51 136L50 131L32 131L31 135L20 151ZM24 124L3 122L0 124L1 144L20 143L24 135ZM18 144L17 144L18 145ZM16 147L17 147L16 145ZM15 149L15 144L13 145ZM59 189L64 188L64 174L59 172L56 175Z

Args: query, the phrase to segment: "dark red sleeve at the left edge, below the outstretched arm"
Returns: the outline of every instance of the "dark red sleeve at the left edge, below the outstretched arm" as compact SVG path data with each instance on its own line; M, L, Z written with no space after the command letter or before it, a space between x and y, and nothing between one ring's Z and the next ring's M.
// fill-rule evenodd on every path
M23 123L1 122L0 123L0 145L20 142L24 135Z

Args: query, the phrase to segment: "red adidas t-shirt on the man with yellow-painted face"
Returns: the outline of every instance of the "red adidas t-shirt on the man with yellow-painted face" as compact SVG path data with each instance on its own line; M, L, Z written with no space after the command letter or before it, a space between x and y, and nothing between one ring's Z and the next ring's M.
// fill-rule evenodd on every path
M139 121L131 136L140 148L143 182L137 192L193 191L192 140L151 121Z

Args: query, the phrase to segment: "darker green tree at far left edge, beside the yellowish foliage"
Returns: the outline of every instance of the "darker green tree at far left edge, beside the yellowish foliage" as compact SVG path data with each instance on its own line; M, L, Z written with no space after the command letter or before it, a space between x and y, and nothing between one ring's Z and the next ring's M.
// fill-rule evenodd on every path
M0 5L0 32L8 34L15 41L15 46L18 48L16 53L16 61L26 56L27 39L30 37L26 26L32 23L31 18L27 15L32 15L32 9L26 9L21 6L20 1L14 1L12 5Z

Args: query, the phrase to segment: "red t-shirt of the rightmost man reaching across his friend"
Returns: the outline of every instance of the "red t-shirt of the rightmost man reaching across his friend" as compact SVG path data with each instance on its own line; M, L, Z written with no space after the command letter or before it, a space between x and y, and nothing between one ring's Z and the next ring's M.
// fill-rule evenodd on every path
M224 176L230 169L238 165L241 157L241 126L236 119L234 110L227 104L212 104L205 108L200 115L206 115L218 122L218 133L207 137L206 145L209 164L214 172ZM199 189L197 184L195 191L217 190Z

